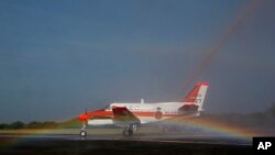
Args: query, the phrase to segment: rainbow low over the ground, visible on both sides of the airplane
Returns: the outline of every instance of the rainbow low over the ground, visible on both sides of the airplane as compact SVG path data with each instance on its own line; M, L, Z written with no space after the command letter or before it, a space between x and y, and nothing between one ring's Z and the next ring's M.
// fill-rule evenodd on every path
M172 119L163 122L167 125L176 125L176 126L183 126L183 128L189 128L189 129L199 129L199 132L202 131L205 134L209 134L209 137L211 136L222 136L222 137L233 137L239 139L242 141L245 141L248 143L251 143L252 136L256 135L257 133L255 131L244 129L244 128L238 128L233 126L213 119ZM57 129L53 130L31 130L29 133L18 133L18 136L7 139L6 141L0 141L0 148L1 147L12 147L16 146L22 143L26 143L31 140L31 137L43 137L43 136L51 136L51 135L58 135L58 133L63 134L72 134L66 132L63 133L63 130L59 131ZM188 131L189 132L189 131ZM188 133L187 132L187 133ZM197 133L197 131L196 131ZM189 134L193 136L193 134Z

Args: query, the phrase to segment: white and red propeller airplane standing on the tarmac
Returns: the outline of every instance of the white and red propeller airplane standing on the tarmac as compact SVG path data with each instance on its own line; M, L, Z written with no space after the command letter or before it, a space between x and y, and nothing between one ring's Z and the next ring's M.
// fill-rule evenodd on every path
M87 125L113 124L124 128L124 136L131 136L140 124L182 115L199 117L208 86L208 82L197 82L182 102L145 103L142 99L139 103L113 102L107 108L85 112L78 117L78 120L82 122L80 135L84 137L87 135Z

